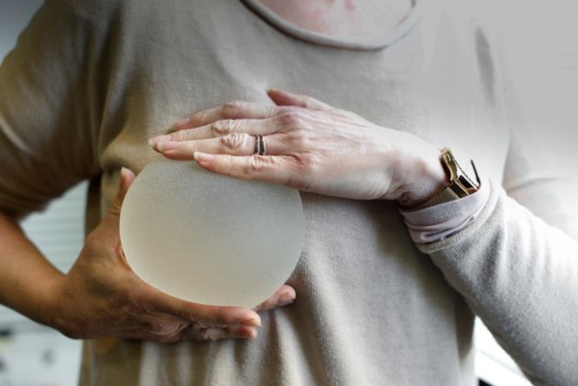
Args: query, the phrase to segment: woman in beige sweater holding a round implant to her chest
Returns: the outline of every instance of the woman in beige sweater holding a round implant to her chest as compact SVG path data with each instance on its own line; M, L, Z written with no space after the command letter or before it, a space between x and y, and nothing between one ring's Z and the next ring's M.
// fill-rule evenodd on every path
M472 384L474 313L533 382L578 378L578 248L553 227L576 233L516 131L494 48L449 1L366 4L53 1L37 14L0 73L0 299L92 339L82 384ZM294 304L191 304L130 270L118 214L133 174L120 170L157 156L149 140L303 191L300 265L264 307ZM441 158L446 146L467 157ZM457 168L469 158L481 184ZM15 218L86 178L103 201L62 276ZM551 225L502 181L546 202L531 209Z

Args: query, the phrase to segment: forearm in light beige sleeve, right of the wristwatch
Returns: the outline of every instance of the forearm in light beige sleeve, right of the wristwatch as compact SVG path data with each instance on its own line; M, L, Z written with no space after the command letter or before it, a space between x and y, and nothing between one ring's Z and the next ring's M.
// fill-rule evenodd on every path
M578 243L495 188L474 224L420 245L537 384L578 379Z

